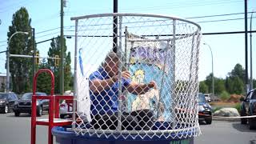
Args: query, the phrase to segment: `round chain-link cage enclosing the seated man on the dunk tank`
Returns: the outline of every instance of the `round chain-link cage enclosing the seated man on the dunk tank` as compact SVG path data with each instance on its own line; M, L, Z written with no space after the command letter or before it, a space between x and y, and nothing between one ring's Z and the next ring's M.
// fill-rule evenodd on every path
M198 24L152 14L71 19L77 134L124 139L200 134Z

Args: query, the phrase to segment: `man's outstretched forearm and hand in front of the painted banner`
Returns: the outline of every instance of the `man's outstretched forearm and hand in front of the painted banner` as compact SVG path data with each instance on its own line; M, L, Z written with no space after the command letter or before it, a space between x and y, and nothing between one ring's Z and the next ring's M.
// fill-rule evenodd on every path
M127 86L127 90L132 94L145 94L151 88L157 88L157 84L154 81L151 81L147 84L138 84L137 82L130 82L130 85Z

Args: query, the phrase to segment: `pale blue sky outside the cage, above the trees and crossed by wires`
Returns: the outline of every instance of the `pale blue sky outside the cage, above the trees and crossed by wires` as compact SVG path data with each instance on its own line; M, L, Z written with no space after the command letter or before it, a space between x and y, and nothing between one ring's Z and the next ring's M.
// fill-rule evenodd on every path
M60 0L0 0L0 51L6 50L7 32L11 25L12 15L22 6L26 7L31 26L35 29L36 42L57 37L60 34ZM248 12L256 11L256 0L248 0ZM87 14L104 14L113 12L113 0L67 0L64 8L64 35L74 35L74 21L71 17ZM198 23L202 33L243 31L244 1L243 0L119 0L118 12L140 14L164 14L186 18ZM223 15L224 14L224 15ZM213 15L222 15L214 16ZM211 17L205 17L211 16ZM248 30L250 30L250 14L248 14ZM252 30L256 29L256 13L252 18ZM253 62L256 63L256 35L253 38ZM227 74L240 63L245 68L245 34L202 35L199 54L200 81L212 72L211 54L214 59L214 76L226 78ZM203 45L206 43L207 45ZM67 51L71 52L74 60L74 38L66 39ZM42 57L47 57L50 42L38 44L37 48ZM250 36L248 34L248 50ZM248 53L250 56L250 53ZM249 57L248 57L249 58ZM0 74L6 74L6 54L0 54ZM74 61L72 61L74 68ZM248 60L250 76L250 61ZM256 77L256 66L253 66L253 78Z

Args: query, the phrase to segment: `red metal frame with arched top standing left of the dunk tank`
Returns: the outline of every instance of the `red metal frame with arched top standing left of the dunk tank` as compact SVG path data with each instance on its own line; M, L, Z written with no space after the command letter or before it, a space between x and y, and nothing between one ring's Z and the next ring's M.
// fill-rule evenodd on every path
M37 96L35 95L36 87L37 87L37 78L38 75L41 73L48 73L51 77L51 89L50 89L50 96ZM40 119L37 120L37 106L36 102L37 99L49 99L49 118L48 121L43 121ZM34 76L33 82L33 95L32 95L32 108L31 108L31 144L35 144L36 142L36 125L43 125L48 126L48 144L53 143L53 135L51 134L51 129L54 126L66 126L71 125L71 121L63 120L59 122L57 118L59 118L59 101L61 99L65 99L66 101L73 103L73 96L64 96L64 95L54 95L54 74L51 70L48 69L41 69ZM55 122L54 122L55 120Z

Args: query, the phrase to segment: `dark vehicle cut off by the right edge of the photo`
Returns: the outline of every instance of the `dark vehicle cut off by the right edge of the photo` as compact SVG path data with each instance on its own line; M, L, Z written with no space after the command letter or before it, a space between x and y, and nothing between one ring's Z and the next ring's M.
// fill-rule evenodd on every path
M246 98L241 98L241 116L256 115L256 89L250 90ZM242 124L249 122L250 130L256 129L256 118L241 118Z

